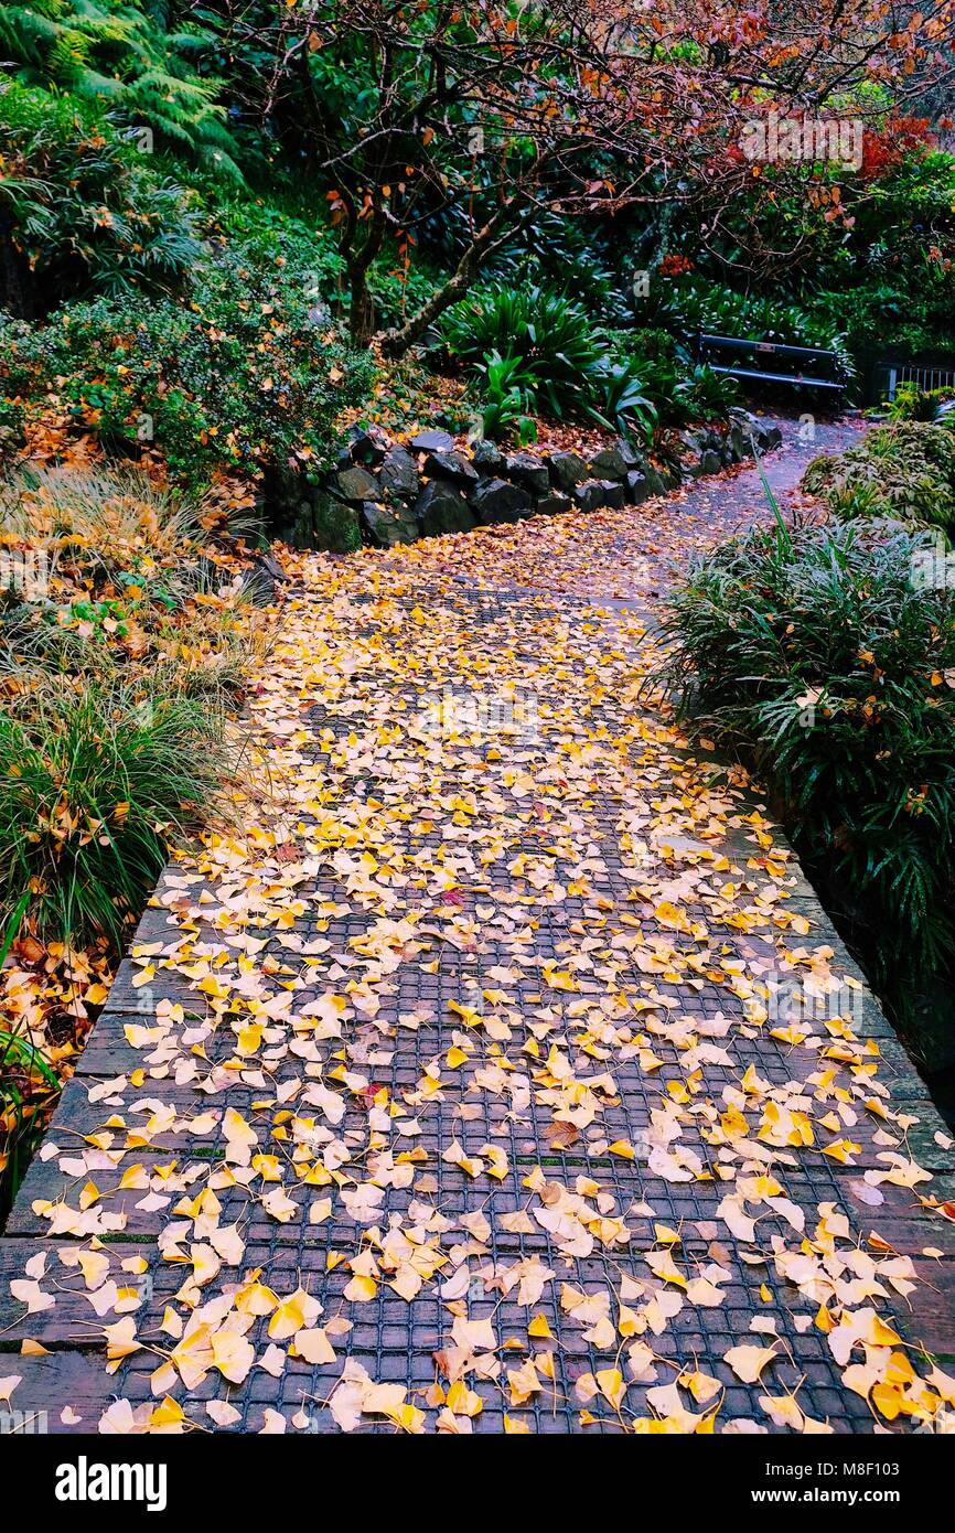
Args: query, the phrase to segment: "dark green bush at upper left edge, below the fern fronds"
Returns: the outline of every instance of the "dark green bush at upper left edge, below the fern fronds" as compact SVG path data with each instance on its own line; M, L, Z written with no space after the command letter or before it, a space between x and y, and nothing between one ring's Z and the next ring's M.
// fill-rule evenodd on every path
M81 103L0 89L0 307L44 313L78 293L170 291L199 256L195 208Z

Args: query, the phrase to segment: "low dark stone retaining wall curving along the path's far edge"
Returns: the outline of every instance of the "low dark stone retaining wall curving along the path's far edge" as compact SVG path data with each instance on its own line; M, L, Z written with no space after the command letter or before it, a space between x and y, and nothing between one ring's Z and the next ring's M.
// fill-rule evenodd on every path
M279 497L270 521L294 547L391 547L441 532L561 510L639 506L684 478L716 474L779 446L777 426L745 409L719 429L681 432L681 463L659 469L618 438L590 460L575 452L507 452L492 442L463 448L446 431L408 440L354 428L336 466L316 486ZM333 529L333 530L330 530Z

